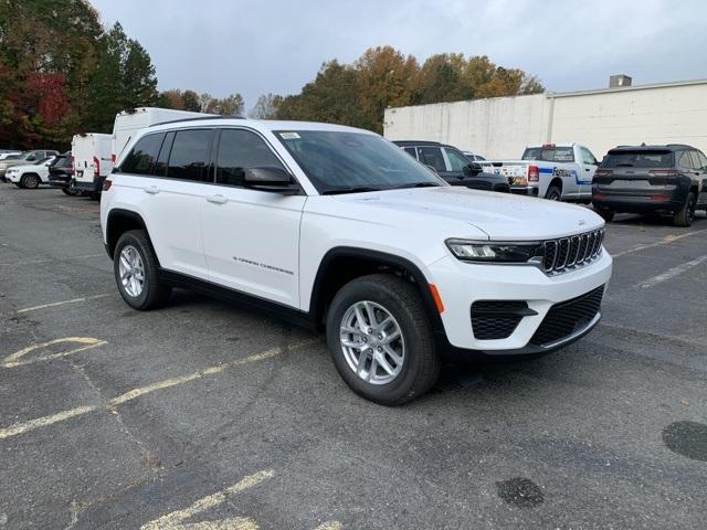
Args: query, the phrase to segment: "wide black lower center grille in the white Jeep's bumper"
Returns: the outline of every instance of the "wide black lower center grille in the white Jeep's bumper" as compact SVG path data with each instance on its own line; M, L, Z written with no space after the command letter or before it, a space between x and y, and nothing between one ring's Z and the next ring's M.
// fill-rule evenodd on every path
M585 295L553 305L537 329L531 344L547 346L569 337L589 325L599 312L604 286Z

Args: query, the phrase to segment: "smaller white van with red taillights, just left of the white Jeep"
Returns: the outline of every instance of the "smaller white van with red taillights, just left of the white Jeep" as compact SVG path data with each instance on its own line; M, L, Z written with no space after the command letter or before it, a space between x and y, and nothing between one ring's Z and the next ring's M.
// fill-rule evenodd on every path
M112 136L99 132L74 135L71 141L71 156L74 165L74 178L70 189L97 195L103 181L113 170L110 158Z

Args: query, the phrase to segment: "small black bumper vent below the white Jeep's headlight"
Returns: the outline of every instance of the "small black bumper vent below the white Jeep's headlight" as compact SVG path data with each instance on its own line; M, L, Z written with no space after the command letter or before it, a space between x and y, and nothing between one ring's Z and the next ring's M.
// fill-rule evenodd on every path
M536 315L523 300L479 300L472 304L472 329L478 340L507 339L523 317Z

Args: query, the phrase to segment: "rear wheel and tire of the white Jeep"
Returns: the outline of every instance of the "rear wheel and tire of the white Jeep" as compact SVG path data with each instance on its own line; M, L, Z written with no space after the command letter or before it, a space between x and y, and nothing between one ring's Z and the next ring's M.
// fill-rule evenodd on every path
M139 257L139 261L136 256ZM124 262L124 258L127 263ZM128 278L134 278L135 283L128 279L127 286L124 285L120 279L122 269L135 271L137 276L135 274L128 276ZM169 300L172 288L159 282L158 271L157 256L144 231L131 230L120 235L113 254L113 272L120 296L128 306L147 311L156 309ZM137 289L136 284L139 284L140 276L143 284L141 288Z

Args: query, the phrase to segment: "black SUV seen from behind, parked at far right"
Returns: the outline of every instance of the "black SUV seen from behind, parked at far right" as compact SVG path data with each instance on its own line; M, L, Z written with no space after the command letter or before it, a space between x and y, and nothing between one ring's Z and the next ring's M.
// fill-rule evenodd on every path
M707 157L690 146L620 146L594 174L594 210L606 221L615 213L669 214L689 226L695 210L707 211Z

